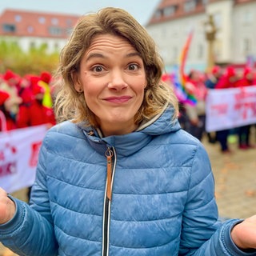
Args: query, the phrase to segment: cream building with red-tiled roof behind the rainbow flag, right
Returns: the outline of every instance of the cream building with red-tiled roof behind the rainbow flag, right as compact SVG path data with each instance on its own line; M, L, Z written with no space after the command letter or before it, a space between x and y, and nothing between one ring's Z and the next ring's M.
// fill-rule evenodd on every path
M244 65L256 58L255 13L256 0L162 0L146 30L157 43L167 71L178 64L182 47L192 31L186 70L206 70L210 49L207 24L212 17L216 29L214 63Z

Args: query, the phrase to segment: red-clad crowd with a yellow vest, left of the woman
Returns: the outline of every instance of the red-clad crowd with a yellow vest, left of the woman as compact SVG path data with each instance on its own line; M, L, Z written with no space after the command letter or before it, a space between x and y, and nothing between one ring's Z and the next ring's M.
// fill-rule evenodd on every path
M1 74L0 131L55 124L51 80L51 74L46 71L40 75L20 76L6 70Z

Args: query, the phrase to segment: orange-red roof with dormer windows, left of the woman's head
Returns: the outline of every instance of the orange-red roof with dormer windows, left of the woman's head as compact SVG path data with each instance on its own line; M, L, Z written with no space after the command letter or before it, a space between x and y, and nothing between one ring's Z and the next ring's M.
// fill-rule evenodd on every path
M6 9L0 16L0 35L67 38L79 16Z

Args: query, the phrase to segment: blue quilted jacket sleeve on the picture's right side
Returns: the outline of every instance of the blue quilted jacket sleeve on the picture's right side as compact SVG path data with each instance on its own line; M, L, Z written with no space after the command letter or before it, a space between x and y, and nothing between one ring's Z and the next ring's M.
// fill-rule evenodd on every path
M255 255L239 250L230 238L230 230L241 220L218 221L214 177L202 145L194 152L190 177L179 255Z

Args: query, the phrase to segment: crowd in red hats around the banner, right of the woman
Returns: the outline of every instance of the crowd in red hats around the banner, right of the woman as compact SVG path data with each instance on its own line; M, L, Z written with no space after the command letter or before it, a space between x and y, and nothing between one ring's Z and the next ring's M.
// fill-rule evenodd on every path
M232 134L238 137L239 149L247 150L253 148L254 145L251 143L250 134L254 124L232 127L216 132L206 132L206 96L209 89L217 90L254 85L256 85L256 73L249 66L245 66L240 70L236 70L234 66L225 68L214 66L207 74L199 70L190 70L190 73L186 76L185 86L190 94L194 94L197 102L194 105L181 102L179 119L183 129L199 140L202 140L203 135L206 134L210 143L219 142L223 153L230 153L228 138Z

